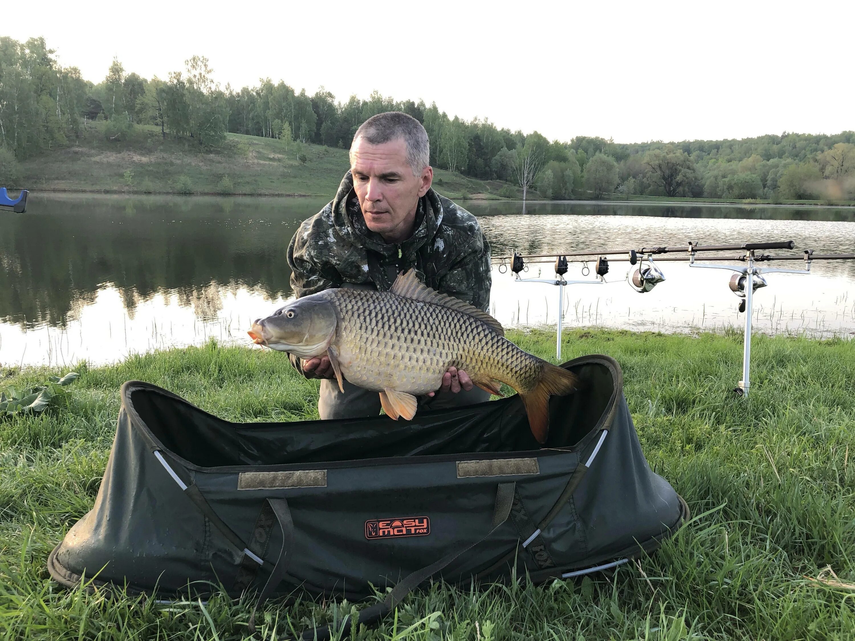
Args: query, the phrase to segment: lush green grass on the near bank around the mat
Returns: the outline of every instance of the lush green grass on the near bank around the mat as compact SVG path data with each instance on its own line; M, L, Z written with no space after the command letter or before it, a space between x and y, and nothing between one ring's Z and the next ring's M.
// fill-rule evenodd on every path
M554 353L549 333L510 338ZM855 591L805 578L830 566L855 580L855 342L757 336L752 396L738 401L730 394L741 366L736 332L588 330L565 340L567 357L604 353L621 363L647 459L696 518L616 573L473 591L437 583L355 638L855 638ZM80 373L67 408L0 423L0 638L241 638L249 599L109 600L60 588L44 563L94 501L126 379L164 385L231 420L314 418L316 383L280 354L215 344ZM0 372L0 384L47 374ZM263 632L273 638L274 626L281 635L350 609L334 600L270 603Z

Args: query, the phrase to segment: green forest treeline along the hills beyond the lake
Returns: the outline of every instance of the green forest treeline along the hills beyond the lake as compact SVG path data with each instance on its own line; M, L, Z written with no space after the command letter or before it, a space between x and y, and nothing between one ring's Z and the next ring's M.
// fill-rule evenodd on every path
M145 79L114 60L97 83L56 62L44 38L0 38L0 180L15 177L16 162L70 144L84 121L105 121L104 136L121 144L139 125L202 148L223 144L227 132L348 148L370 116L400 110L421 121L434 167L518 185L541 197L615 194L828 199L855 197L855 132L784 132L741 140L621 144L576 137L548 140L465 121L435 103L395 101L374 91L368 99L337 101L322 87L309 95L283 81L263 79L234 90L212 79L209 61L193 56L168 78ZM501 195L512 196L508 185Z

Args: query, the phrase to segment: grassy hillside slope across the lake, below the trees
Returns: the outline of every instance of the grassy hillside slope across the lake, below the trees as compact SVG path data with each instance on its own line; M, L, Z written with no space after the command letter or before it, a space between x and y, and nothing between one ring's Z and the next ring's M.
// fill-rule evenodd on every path
M275 138L227 134L218 150L191 139L161 137L137 126L131 138L109 141L89 123L74 144L21 162L21 186L31 191L194 193L333 197L350 162L347 150L285 144ZM306 162L300 161L304 154ZM498 198L504 183L437 170L434 186L452 198Z

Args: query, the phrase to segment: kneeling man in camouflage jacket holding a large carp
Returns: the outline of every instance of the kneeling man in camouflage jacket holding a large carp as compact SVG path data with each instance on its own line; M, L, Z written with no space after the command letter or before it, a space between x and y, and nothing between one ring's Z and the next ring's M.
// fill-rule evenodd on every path
M303 222L288 246L297 297L329 287L392 288L398 273L416 269L429 287L487 310L490 245L475 216L433 189L428 132L398 111L378 114L357 129L351 170L333 201ZM320 378L321 419L380 414L380 396L351 385L345 391L327 356L292 357L307 378ZM420 409L481 403L489 398L463 370L449 368Z

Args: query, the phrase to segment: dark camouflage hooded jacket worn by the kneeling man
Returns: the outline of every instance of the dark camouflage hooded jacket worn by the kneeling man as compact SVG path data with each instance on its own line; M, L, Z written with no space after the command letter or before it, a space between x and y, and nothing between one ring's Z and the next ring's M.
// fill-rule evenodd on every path
M416 231L387 244L365 225L351 173L335 198L303 222L288 246L297 297L347 283L392 288L398 273L415 268L426 285L488 311L490 244L475 216L433 189L419 199Z

